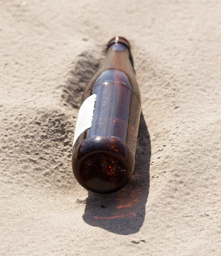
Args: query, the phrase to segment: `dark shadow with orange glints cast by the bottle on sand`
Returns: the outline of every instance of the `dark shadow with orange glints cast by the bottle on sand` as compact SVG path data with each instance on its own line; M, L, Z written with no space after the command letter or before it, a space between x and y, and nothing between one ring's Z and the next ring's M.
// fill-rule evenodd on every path
M98 195L88 192L83 215L84 222L120 235L137 233L145 218L150 159L150 135L141 113L136 163L131 180L123 189L113 194Z

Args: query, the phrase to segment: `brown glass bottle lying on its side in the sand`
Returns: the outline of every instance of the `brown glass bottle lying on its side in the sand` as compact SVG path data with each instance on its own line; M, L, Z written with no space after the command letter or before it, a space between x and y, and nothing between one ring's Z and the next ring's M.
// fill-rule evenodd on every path
M82 96L73 143L72 167L92 192L121 189L134 171L140 121L140 91L129 42L109 41L106 58Z

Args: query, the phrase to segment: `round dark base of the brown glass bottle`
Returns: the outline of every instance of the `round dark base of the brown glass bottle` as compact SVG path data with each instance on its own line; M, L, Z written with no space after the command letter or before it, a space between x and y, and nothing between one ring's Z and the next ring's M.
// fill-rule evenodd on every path
M93 151L76 163L75 176L85 189L108 194L121 189L130 179L125 160L110 151Z

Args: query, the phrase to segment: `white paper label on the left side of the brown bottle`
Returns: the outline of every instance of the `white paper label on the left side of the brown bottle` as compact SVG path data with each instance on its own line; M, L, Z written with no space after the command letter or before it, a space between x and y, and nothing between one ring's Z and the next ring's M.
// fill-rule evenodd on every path
M95 102L96 94L93 94L85 99L85 101L82 103L76 122L73 146L79 135L91 127Z

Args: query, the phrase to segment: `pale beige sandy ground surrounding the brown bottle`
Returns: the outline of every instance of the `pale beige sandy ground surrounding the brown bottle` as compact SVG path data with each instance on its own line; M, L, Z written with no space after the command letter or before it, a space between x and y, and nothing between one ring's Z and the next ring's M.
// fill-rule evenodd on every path
M74 179L81 91L114 35L142 93L131 182ZM221 255L221 1L0 1L0 255Z

